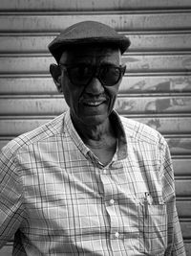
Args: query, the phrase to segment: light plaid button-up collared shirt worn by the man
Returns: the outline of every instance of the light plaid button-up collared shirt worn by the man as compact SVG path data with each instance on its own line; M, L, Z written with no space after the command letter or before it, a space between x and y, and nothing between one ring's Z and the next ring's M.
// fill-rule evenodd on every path
M0 245L13 255L185 255L163 137L111 115L118 145L103 166L69 111L12 140L0 157Z

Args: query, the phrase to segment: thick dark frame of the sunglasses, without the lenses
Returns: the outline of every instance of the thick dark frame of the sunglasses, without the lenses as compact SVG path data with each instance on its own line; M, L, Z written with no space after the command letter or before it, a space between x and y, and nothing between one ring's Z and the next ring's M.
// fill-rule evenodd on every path
M125 74L125 70L126 70L126 65L115 65L115 64L102 64L102 65L88 65L88 64L78 64L78 65L67 65L67 64L62 64L62 63L59 63L60 66L62 66L64 68L64 70L66 71L67 73L67 76L69 78L69 80L74 84L74 85L80 85L80 86L86 86L88 85L88 83L90 83L90 81L93 80L93 78L97 78L98 81L101 82L102 85L104 86L114 86L117 84L118 81L120 81L120 79L124 76ZM70 70L75 68L75 67L80 67L80 66L87 66L87 67L91 67L92 68L92 76L91 78L86 82L86 83L79 83L79 81L77 81L76 83L73 81L73 79L71 79L71 76L70 76ZM111 67L114 67L114 68L117 68L119 70L119 75L118 75L118 79L115 83L113 84L107 84L106 82L102 81L101 80L101 77L100 77L100 73L101 73L101 68L104 68L104 67L107 67L107 66L111 66Z

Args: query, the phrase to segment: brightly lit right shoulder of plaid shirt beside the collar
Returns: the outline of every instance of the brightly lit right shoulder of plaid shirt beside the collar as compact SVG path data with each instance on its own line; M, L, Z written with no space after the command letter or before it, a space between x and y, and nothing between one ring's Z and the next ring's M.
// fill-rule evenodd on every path
M120 116L120 120L127 138L151 144L164 142L163 136L158 130L130 118Z

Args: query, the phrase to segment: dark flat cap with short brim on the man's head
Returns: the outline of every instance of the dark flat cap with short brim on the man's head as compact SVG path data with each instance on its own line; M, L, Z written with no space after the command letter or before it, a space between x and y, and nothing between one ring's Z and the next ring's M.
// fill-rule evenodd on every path
M49 44L49 50L59 62L62 53L69 47L87 44L114 45L121 54L130 46L130 40L118 34L113 28L96 21L83 21L74 24L57 35Z

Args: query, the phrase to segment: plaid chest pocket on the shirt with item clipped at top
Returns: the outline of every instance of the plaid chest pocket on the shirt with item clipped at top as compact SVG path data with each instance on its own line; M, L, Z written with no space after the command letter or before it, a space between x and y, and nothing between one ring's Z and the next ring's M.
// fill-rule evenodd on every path
M167 247L167 212L162 198L157 203L147 193L138 199L139 250L146 255L164 255Z

